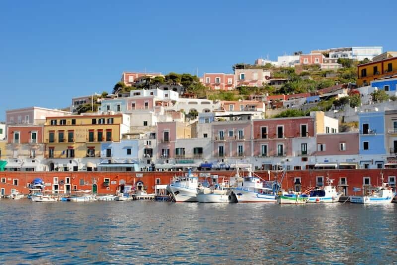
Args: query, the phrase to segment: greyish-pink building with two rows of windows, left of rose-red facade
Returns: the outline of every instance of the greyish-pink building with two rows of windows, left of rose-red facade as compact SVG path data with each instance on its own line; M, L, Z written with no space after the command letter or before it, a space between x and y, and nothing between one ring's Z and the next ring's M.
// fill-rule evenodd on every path
M243 158L252 156L252 121L219 121L212 123L213 157Z

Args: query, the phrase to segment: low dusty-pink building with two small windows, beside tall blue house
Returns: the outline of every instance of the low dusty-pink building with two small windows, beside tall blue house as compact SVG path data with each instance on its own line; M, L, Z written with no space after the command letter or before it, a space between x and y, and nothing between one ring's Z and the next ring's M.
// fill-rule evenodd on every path
M357 155L358 133L317 134L317 156Z

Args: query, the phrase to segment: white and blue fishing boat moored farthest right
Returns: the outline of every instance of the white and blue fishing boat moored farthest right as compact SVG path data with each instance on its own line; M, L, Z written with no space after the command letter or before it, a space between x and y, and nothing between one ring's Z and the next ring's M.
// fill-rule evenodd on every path
M393 201L396 193L389 187L388 183L383 182L382 186L375 187L366 196L350 196L350 202L354 204L388 204Z

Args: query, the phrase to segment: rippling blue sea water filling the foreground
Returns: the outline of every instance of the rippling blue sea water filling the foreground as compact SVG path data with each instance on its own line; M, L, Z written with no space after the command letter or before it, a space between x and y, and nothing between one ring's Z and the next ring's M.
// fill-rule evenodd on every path
M397 204L0 200L1 264L391 264Z

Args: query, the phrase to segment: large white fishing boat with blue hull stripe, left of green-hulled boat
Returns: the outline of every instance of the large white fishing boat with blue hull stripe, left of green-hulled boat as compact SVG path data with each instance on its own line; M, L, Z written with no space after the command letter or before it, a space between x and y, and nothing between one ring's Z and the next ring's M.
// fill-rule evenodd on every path
M265 183L259 176L253 176L250 168L248 176L243 178L237 172L230 182L230 186L235 186L232 188L232 197L238 203L275 203L276 195L270 188L273 182L268 182L269 187L264 187Z

